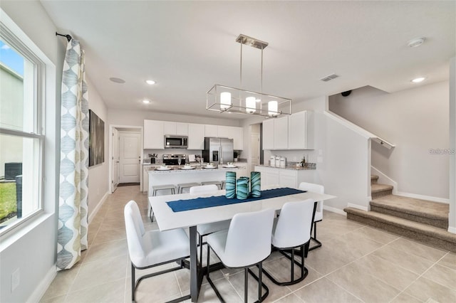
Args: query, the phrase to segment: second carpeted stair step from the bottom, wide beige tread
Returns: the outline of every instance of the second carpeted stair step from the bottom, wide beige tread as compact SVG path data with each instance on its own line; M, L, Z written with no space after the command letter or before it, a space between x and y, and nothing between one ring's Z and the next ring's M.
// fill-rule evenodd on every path
M371 211L448 229L450 208L446 203L390 195L371 201Z

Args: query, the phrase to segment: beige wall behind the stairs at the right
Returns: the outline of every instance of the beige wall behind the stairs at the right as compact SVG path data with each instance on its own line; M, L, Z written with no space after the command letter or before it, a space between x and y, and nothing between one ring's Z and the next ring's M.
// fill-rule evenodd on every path
M372 165L398 183L399 193L448 198L448 82L386 93L373 87L331 96L329 110L395 144L372 144Z

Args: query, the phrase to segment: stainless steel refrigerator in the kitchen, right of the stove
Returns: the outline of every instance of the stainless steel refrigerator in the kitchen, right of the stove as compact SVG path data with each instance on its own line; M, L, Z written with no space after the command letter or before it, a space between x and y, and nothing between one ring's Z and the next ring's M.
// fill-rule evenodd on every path
M233 161L233 139L204 138L202 151L204 162L214 164L227 164Z

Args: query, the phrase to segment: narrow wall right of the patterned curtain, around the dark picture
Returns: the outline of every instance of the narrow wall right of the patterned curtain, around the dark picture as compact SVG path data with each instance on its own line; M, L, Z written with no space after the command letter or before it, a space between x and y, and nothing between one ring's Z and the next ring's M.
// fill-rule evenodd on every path
M84 46L83 46L84 47ZM88 216L93 218L95 212L109 193L109 125L108 107L98 94L96 87L86 78L88 85L88 107L105 122L105 161L88 168ZM90 226L89 226L90 228Z

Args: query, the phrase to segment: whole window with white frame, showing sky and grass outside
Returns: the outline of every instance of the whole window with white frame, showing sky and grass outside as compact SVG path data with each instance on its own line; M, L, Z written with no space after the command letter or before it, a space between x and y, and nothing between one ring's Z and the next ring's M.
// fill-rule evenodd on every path
M45 67L0 23L0 235L43 210Z

